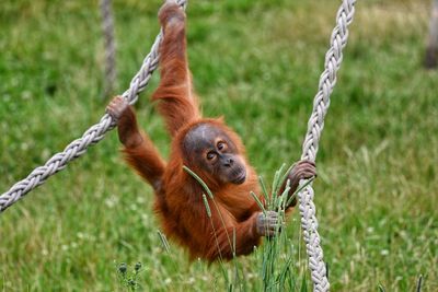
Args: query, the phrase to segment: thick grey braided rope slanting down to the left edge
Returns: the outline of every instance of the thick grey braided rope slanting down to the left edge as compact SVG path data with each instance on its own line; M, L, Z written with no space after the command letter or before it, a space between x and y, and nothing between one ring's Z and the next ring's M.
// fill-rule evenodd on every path
M177 0L176 2L183 8L186 5L186 0ZM146 89L153 71L158 67L161 39L162 30L155 37L151 51L146 56L140 70L132 78L129 89L122 94L129 104L137 102L138 94ZM70 161L83 155L90 145L100 142L105 137L105 133L115 126L116 124L112 117L105 114L101 120L91 126L81 138L72 141L62 152L53 155L44 166L36 167L26 178L18 182L7 192L2 194L0 196L0 213L24 197L28 191L44 184L48 177L66 168Z

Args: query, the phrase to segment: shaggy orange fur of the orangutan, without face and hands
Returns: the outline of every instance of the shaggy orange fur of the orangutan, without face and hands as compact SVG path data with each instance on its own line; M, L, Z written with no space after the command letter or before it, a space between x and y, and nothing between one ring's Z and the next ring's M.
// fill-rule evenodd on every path
M260 208L250 196L251 190L258 192L256 173L246 162L239 136L222 119L205 119L199 113L185 52L185 15L175 5L162 9L159 16L164 27L164 39L161 81L152 101L158 102L158 109L173 138L171 155L165 165L149 138L140 133L134 110L128 107L118 122L126 160L154 187L154 210L164 233L187 247L192 259L200 257L212 261L218 257L232 258L233 233L235 255L250 254L261 241L255 230L255 214ZM211 218L207 215L203 201L203 188L183 171L183 165L189 163L182 153L182 141L199 124L214 125L226 132L246 164L246 179L241 185L219 184L215 175L196 167L192 170L215 194L215 202L208 199Z

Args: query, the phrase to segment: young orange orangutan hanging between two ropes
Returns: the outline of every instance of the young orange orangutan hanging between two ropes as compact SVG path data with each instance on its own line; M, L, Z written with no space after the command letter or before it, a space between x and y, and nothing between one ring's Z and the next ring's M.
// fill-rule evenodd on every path
M264 215L250 196L250 191L261 190L240 137L222 119L204 118L199 113L186 57L184 11L168 1L159 20L164 34L161 81L152 101L158 102L172 137L171 153L165 162L140 131L134 109L117 96L107 106L107 113L117 120L126 161L153 187L154 210L164 233L186 247L192 259L232 258L234 250L228 236L233 233L235 255L250 254L261 237L274 234L280 224L278 214L269 211ZM215 194L218 208L210 208L211 218L203 201L203 187L183 170L184 165ZM289 194L295 192L300 179L314 175L312 162L298 162L288 174Z

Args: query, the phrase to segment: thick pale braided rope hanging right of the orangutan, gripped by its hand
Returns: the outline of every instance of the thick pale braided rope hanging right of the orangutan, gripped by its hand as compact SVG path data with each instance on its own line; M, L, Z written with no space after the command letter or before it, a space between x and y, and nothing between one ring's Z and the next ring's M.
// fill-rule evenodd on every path
M356 0L344 0L336 14L336 26L332 32L331 46L325 55L325 70L320 77L318 93L313 101L313 110L308 122L308 132L302 145L302 160L315 161L318 144L324 128L324 117L330 106L330 95L336 84L336 72L343 61L343 49L347 44L348 25L353 21ZM303 184L304 182L301 182ZM313 188L311 185L298 194L301 214L301 226L306 248L309 256L309 268L314 291L328 291L330 283L326 277L323 252L318 233L318 220L313 203Z

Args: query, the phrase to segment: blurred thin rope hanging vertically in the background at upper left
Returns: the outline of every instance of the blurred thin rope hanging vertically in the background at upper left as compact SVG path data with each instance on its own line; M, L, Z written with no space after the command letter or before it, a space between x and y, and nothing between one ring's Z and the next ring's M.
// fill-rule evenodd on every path
M114 20L111 9L111 0L101 0L102 30L105 47L105 84L103 97L113 93L113 84L116 80L116 46L114 42Z

